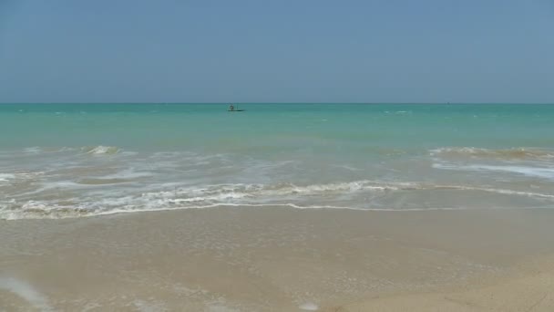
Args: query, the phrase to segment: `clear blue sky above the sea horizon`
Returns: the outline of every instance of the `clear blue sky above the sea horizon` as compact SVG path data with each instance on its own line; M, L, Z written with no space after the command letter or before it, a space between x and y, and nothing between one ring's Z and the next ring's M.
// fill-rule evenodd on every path
M0 102L549 102L554 0L0 0Z

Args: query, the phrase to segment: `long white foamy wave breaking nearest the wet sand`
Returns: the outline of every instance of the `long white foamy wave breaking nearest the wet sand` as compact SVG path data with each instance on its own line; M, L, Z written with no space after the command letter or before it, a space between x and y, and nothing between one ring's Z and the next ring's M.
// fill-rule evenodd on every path
M378 205L372 202L397 192L480 192L529 198L541 207L554 204L554 194L523 192L467 185L423 182L357 181L328 184L215 184L150 192L100 192L58 200L9 200L0 202L0 219L72 218L112 213L134 213L220 206L284 206L297 209L354 209L380 211L425 211L467 209L444 205L415 207ZM425 194L424 194L425 195ZM470 195L469 193L467 195Z

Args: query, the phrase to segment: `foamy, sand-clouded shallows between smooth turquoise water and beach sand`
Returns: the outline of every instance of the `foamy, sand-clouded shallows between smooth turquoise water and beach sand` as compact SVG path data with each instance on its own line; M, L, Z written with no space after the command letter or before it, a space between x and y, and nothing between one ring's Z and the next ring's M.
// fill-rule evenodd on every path
M554 179L554 164L549 167L548 152L533 150L530 154L540 157L537 161L534 158L520 160L514 156L527 155L528 150L499 150L500 154L511 155L499 160L494 156L498 153L496 150L453 149L431 151L436 158L433 167ZM352 162L333 159L311 163L311 160L293 158L292 161L278 155L261 159L217 152L140 151L126 154L121 151L118 147L104 145L40 148L33 151L38 152L37 156L28 155L24 161L15 161L15 156L1 159L0 192L9 194L5 200L0 199L0 219L66 218L220 206L385 211L458 209L479 207L476 201L460 202L460 198L473 198L476 194L487 207L498 203L509 208L513 206L512 202L518 207L548 207L554 203L554 189L541 179L536 179L537 182L533 183L537 184L536 187L531 188L528 179L514 179L513 175L503 173L483 175L485 178L494 177L495 182L486 179L474 183L473 180L457 180L456 172L447 172L452 178L445 178L445 172L426 168L429 172L425 177L427 182L406 181L418 178L411 172L416 167L414 158L408 162L400 162L405 161L402 159L365 165L356 159ZM449 159L452 151L461 153L462 161ZM21 150L16 152L25 154ZM493 155L492 159L487 158L489 154ZM478 156L476 161L471 155L486 156ZM415 161L426 166L427 160ZM321 172L322 164L330 170ZM410 169L407 173L406 168ZM364 177L372 176L383 180L364 180ZM463 176L467 178L467 174ZM504 180L498 182L499 179ZM405 182L401 182L403 180ZM464 182L458 184L458 181ZM435 195L440 192L443 194ZM450 203L449 198L457 202Z

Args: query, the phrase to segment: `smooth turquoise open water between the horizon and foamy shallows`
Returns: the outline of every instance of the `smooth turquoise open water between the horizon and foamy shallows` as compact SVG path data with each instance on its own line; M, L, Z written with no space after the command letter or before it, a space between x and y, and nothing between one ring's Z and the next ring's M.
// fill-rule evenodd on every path
M3 148L115 145L152 151L234 146L554 146L554 106L250 104L1 105ZM291 138L292 137L292 138ZM291 140L295 139L295 140ZM271 149L270 149L271 150Z

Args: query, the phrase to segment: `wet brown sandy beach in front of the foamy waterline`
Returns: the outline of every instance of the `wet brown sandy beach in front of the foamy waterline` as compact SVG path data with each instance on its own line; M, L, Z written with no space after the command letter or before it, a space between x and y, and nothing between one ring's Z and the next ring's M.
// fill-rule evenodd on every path
M0 311L551 311L554 212L221 207L0 222Z

